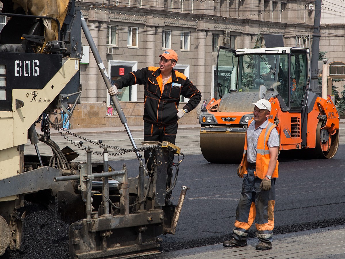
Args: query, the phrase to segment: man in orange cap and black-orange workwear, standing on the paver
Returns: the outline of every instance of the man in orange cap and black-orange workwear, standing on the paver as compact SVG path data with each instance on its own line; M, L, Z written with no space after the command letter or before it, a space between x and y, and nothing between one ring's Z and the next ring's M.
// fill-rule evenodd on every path
M108 93L115 95L123 87L144 85L144 141L168 141L175 144L177 120L197 107L201 93L183 73L173 69L177 63L174 50L168 49L159 57L159 67L146 67L124 75L113 82ZM181 95L189 101L182 109L178 109ZM144 152L144 157L147 163L149 151ZM149 165L147 169L150 171ZM169 183L171 177L172 170L168 170Z

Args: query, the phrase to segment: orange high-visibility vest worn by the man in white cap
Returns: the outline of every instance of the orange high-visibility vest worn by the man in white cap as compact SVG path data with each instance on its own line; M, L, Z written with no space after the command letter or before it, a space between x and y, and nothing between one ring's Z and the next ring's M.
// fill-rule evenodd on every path
M248 127L250 123L252 123L253 119L249 121ZM270 154L268 150L268 138L269 135L271 134L272 130L276 127L275 124L272 122L268 122L266 128L262 130L262 132L259 135L258 138L258 144L256 148L256 161L255 161L255 171L254 171L254 176L264 179L267 170L268 170L268 163L270 160ZM278 130L278 129L277 129ZM278 131L279 132L279 131ZM246 133L246 138L244 142L244 151L243 151L243 158L240 164L240 174L243 177L243 174L247 173L247 167L248 167L248 162L247 162L247 133ZM278 178L278 161L276 164L276 167L273 171L272 178Z

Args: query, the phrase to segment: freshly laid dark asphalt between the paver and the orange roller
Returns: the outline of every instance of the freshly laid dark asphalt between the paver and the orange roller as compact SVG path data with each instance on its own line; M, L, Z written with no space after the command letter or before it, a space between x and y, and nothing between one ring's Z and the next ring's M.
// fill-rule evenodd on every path
M280 159L276 181L275 234L345 224L344 153L340 145L330 160ZM135 160L122 161L135 172ZM110 162L116 165L116 162ZM237 165L211 164L202 155L188 155L180 165L172 201L180 186L187 191L174 236L161 236L162 251L221 243L235 222L242 179ZM134 176L134 175L133 175ZM249 237L254 237L252 227Z

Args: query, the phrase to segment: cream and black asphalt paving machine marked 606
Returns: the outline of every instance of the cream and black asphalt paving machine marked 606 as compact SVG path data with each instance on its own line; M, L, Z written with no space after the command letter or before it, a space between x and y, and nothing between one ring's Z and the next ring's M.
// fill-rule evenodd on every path
M159 253L158 236L175 234L188 190L182 186L172 204L184 158L180 148L169 142L137 147L116 96L112 100L133 148L62 130L80 104L81 29L106 87L111 87L79 1L2 2L6 13L0 15L10 19L0 33L0 257L135 258ZM60 111L68 115L66 120ZM52 130L69 145L61 148ZM34 154L27 152L28 140ZM40 152L38 143L51 152ZM152 162L142 161L140 153L146 150ZM81 152L86 161L76 160ZM135 172L126 164L117 169L109 165L109 157L128 152L137 155ZM93 162L94 156L102 162ZM46 216L32 217L35 208L43 208ZM40 248L34 250L33 243ZM52 243L59 251L42 254L51 251Z

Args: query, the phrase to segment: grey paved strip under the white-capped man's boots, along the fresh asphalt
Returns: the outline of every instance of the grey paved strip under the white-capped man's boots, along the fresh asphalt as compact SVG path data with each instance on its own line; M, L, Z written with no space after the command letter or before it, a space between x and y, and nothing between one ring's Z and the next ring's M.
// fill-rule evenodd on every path
M227 248L223 244L163 253L159 258L345 258L345 225L305 230L273 236L273 249L257 251L257 238L249 238L246 247ZM157 257L158 258L158 257Z

